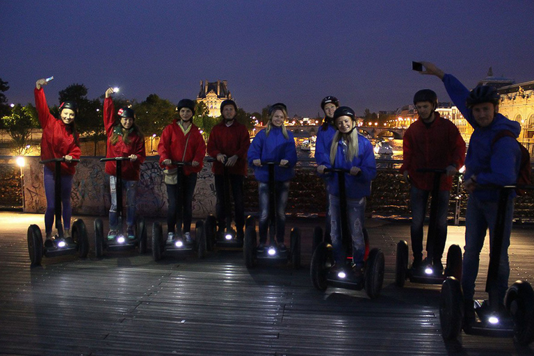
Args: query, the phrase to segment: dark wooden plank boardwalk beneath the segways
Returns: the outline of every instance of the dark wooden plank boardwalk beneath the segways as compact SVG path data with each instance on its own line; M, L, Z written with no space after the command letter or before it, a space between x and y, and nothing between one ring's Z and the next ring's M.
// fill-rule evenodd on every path
M92 246L93 218L83 219ZM300 270L247 270L236 251L156 263L134 251L98 260L91 250L85 260L43 258L42 267L30 268L31 223L42 227L42 215L0 213L0 355L534 355L511 339L463 334L461 342L444 343L439 286L394 286L395 248L409 235L406 223L368 222L371 244L386 257L378 300L364 291L313 288L311 219L288 220L288 230L302 230ZM533 232L514 229L510 282L532 280ZM463 245L463 234L464 227L449 227L447 246Z

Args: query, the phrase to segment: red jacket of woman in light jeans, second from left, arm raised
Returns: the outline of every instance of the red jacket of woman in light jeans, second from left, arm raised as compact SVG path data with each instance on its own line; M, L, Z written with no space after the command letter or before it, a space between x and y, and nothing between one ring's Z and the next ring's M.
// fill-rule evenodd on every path
M122 179L127 181L138 181L140 166L145 162L147 154L145 152L145 140L139 137L135 131L129 133L129 143L124 143L120 135L115 145L111 144L111 136L113 136L113 129L117 126L115 122L115 106L113 99L106 97L104 99L104 129L106 129L106 136L108 136L107 158L111 157L127 157L131 154L136 154L136 161L122 161ZM120 124L119 124L120 125ZM121 129L122 131L122 129ZM108 175L117 175L117 163L115 161L106 162L106 173Z

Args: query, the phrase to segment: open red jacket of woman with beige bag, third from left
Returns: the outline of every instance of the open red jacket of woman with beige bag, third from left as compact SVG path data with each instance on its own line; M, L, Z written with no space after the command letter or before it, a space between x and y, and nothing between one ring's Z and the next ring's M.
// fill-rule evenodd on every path
M187 147L186 147L187 143ZM185 154L184 154L185 152ZM169 169L175 166L163 165L165 159L179 162L197 161L200 165L193 167L192 165L184 166L184 174L191 175L191 173L198 173L204 166L204 156L206 156L206 144L202 133L195 124L191 124L187 134L184 134L181 127L179 127L177 119L172 120L172 124L163 129L161 139L158 145L159 165L161 168Z

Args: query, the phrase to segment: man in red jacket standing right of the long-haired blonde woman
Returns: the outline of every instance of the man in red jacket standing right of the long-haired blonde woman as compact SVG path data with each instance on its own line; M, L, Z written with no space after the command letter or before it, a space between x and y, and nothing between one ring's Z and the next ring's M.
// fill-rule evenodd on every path
M434 173L417 172L420 168L446 170L439 184L437 197L437 248L427 251L426 264L433 265L440 273L443 270L442 256L447 238L448 200L453 185L453 175L464 164L465 142L458 127L436 111L437 95L430 89L419 90L414 95L414 105L419 120L408 127L403 137L403 165L401 173L410 189L412 207L412 268L421 267L423 260L423 222L426 215L428 195L432 191Z

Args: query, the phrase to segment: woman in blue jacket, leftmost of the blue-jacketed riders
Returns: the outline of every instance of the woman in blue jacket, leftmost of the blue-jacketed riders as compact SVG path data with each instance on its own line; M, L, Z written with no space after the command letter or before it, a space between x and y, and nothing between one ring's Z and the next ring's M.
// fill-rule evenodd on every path
M297 150L293 133L287 131L284 122L287 108L282 103L269 108L267 127L254 137L248 149L248 163L254 168L259 191L259 245L257 252L263 252L267 242L269 225L268 166L266 162L280 163L275 166L275 201L277 204L276 241L278 250L284 252L284 232L286 227L286 205L289 181L295 175L293 168L297 163ZM270 231L270 234L274 234Z

